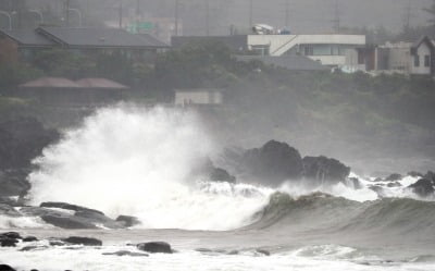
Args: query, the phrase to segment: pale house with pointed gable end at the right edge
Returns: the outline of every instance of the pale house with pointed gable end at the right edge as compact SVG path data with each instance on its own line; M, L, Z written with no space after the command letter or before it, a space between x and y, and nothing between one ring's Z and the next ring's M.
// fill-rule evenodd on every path
M435 75L435 45L427 37L414 42L386 42L349 51L344 66L347 71Z

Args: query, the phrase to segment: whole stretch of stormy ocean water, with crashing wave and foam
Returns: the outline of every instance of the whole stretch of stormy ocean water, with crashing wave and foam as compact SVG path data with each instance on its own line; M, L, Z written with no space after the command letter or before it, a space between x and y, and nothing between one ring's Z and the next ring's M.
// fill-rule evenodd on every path
M129 230L66 231L37 218L0 217L0 229L42 241L0 248L17 270L435 270L435 202L373 180L272 189L192 178L201 159L219 151L195 112L114 107L99 110L44 151L30 174L33 205L66 201L109 217L130 214ZM48 237L97 237L102 247L45 247ZM136 244L169 242L177 251L149 257ZM41 247L20 251L28 245ZM259 250L260 249L260 250ZM269 251L266 256L262 250Z

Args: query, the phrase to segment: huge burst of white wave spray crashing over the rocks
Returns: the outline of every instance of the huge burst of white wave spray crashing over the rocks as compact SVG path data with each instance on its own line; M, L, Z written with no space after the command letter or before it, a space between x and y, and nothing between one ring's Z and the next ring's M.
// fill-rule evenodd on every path
M102 109L35 161L40 170L29 175L30 200L66 201L112 217L137 215L144 227L245 225L266 204L269 192L189 180L198 159L212 152L213 143L191 111Z

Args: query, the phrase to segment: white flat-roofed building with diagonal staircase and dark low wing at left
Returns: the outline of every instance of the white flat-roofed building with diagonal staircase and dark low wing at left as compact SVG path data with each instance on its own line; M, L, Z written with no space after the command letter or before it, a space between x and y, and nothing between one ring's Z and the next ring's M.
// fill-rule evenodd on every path
M306 56L322 65L346 64L348 50L365 46L364 35L234 35L220 37L172 37L172 46L181 47L198 40L221 41L234 52L260 56Z

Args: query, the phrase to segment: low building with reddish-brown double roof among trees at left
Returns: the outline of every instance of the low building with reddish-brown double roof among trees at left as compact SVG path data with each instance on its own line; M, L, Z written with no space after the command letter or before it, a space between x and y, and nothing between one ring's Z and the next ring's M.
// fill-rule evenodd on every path
M14 95L32 98L45 104L107 103L122 99L128 87L105 78L71 81L62 77L41 77L22 84Z

